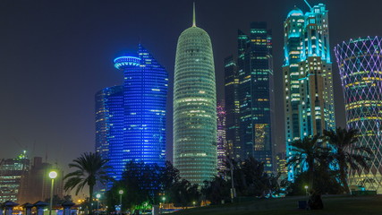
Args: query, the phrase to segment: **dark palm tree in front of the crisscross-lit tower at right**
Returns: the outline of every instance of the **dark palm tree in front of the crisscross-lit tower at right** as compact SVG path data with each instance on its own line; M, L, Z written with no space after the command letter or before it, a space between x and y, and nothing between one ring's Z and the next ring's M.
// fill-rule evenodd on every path
M358 144L359 131L356 129L346 130L337 127L335 131L324 131L326 141L333 147L332 159L337 163L340 172L340 179L344 185L346 193L350 193L347 183L347 173L349 168L359 171L360 168L369 170L369 147Z

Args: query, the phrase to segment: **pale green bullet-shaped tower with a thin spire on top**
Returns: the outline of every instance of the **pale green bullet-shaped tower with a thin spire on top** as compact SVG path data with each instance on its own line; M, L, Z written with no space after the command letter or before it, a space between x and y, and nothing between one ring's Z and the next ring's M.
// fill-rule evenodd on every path
M174 73L174 167L192 184L216 175L216 83L208 33L196 27L178 39Z

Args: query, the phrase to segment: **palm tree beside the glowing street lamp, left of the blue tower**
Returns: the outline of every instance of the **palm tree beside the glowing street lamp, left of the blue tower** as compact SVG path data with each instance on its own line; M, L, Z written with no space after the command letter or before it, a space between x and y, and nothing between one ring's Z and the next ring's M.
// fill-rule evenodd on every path
M93 189L97 182L105 184L108 180L113 180L106 176L106 159L102 159L96 152L84 152L80 158L73 159L73 163L69 164L69 168L77 168L77 170L64 176L67 179L64 190L72 190L77 187L75 194L77 195L85 185L89 185L89 213L92 213Z

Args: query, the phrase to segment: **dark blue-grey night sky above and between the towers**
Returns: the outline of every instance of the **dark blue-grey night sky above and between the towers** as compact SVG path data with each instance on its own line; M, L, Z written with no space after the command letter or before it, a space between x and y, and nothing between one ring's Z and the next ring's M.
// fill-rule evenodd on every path
M329 3L330 2L330 3ZM342 40L382 36L382 1L310 0L329 10L331 48ZM224 98L225 56L236 53L237 29L268 22L273 30L278 150L284 149L281 65L283 22L303 0L196 1L197 25L211 37L217 98ZM166 66L172 82L176 42L191 27L192 1L2 1L0 7L0 158L21 150L66 168L94 150L94 95L123 82L113 59L139 42ZM335 63L335 57L332 56ZM344 126L344 99L334 68L337 125ZM167 102L167 159L172 159L172 84Z

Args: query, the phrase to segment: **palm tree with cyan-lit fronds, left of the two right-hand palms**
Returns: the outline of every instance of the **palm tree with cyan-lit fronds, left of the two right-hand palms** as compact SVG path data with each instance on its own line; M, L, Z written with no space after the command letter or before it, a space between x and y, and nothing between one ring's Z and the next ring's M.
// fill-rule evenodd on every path
M290 143L292 156L288 159L286 166L302 172L306 169L309 173L310 188L313 188L314 166L327 155L327 149L322 147L320 136L306 136L302 140L295 140Z

